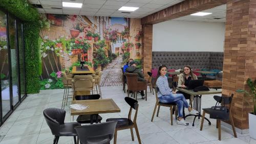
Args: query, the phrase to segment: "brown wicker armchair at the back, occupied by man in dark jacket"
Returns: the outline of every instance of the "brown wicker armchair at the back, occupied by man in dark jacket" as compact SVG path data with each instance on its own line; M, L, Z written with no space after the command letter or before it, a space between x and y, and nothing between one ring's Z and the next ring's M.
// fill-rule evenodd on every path
M147 82L138 81L138 74L124 73L127 80L127 95L129 97L130 91L135 93L135 98L137 100L137 91L145 90L145 100L147 101Z

